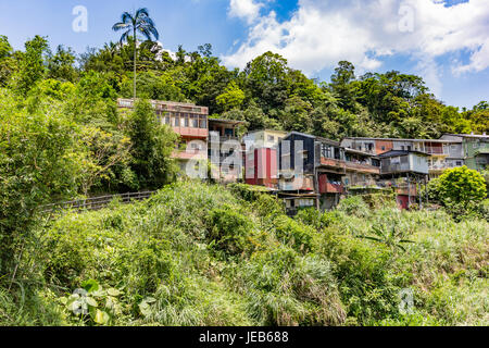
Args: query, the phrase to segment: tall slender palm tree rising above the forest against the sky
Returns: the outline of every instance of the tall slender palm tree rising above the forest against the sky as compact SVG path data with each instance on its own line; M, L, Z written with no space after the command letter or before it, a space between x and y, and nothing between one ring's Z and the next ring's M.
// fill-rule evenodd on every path
M134 39L134 99L136 99L136 60L137 60L137 34L142 34L149 41L151 37L154 39L160 38L160 34L156 30L156 26L153 20L149 16L148 9L139 9L136 13L131 14L124 12L121 17L121 22L115 23L112 30L120 32L125 30L121 36L121 45L127 41L130 34L133 34Z

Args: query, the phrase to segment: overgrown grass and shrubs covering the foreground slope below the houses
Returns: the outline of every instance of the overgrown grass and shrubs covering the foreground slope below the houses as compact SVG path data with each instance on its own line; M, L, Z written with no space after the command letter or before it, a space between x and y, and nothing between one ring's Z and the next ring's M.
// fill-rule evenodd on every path
M487 325L489 224L368 201L290 219L247 186L180 182L147 202L62 212L35 229L0 322Z

